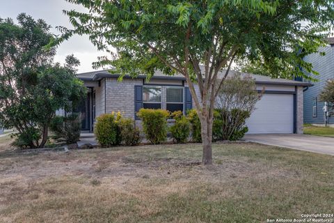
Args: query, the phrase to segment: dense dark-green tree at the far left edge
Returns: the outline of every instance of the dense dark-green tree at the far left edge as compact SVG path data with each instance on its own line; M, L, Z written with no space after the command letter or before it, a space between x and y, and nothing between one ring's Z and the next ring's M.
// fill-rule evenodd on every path
M72 110L86 88L75 78L74 56L64 67L51 63L55 49L43 47L53 37L43 20L17 20L0 19L0 122L17 129L16 145L42 147L56 110Z

